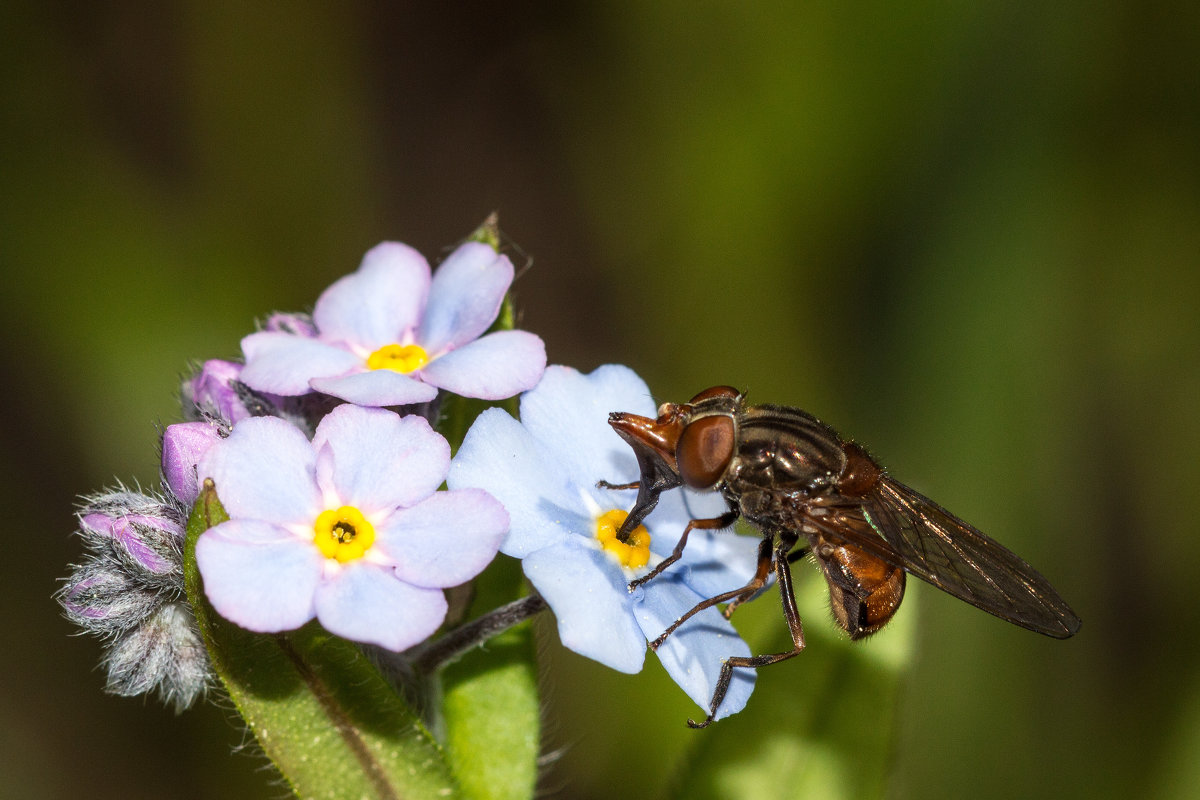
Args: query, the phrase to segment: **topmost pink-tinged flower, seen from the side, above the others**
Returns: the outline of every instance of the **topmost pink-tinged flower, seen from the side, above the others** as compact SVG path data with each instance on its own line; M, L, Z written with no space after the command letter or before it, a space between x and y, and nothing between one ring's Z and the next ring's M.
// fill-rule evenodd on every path
M430 273L412 247L385 242L317 300L314 335L278 326L241 341L240 380L272 395L311 391L358 405L432 401L438 389L503 399L536 385L542 341L527 331L482 336L512 283L512 263L480 242Z

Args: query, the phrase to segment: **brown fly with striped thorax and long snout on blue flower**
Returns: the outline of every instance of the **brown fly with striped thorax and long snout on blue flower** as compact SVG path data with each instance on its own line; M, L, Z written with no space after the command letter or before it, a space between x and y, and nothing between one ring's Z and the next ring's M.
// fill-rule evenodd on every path
M664 403L656 420L614 411L608 425L634 449L641 470L636 483L600 482L638 491L618 537L640 525L667 489L713 489L728 504L719 517L689 522L671 555L630 583L630 590L679 560L692 530L727 528L742 517L762 533L750 582L698 603L652 649L706 608L728 603L728 616L767 585L772 572L779 583L792 649L727 658L708 717L688 721L694 728L712 723L736 668L764 667L804 649L790 565L809 553L829 587L834 619L852 639L875 633L895 615L906 572L1031 631L1066 639L1079 630L1079 618L1037 570L893 480L862 446L811 414L748 405L738 390L714 386L688 403Z

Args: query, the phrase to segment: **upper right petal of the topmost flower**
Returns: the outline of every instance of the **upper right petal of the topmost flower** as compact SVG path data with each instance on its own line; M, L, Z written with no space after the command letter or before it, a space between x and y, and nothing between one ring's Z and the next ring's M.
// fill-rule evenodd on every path
M508 255L481 242L461 245L433 273L416 341L431 355L439 355L479 337L496 320L511 283Z

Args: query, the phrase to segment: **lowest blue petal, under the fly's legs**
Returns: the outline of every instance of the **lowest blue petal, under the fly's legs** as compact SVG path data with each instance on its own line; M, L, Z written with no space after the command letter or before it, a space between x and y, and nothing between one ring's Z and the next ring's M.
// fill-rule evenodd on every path
M646 638L654 639L702 600L680 582L662 576L643 587L635 615ZM719 610L709 608L684 622L656 652L671 679L708 714L721 664L730 656L749 656L750 648ZM736 669L716 718L745 708L754 684L754 669Z

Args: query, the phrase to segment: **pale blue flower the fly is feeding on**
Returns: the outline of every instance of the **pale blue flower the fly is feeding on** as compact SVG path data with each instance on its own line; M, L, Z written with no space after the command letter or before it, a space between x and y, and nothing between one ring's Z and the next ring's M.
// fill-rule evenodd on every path
M654 409L646 384L628 367L605 366L589 375L550 367L521 397L520 422L500 409L479 416L448 479L451 488L484 488L504 503L511 524L500 552L522 560L554 612L563 644L628 673L642 668L647 642L684 612L745 585L758 549L757 540L728 530L694 530L679 563L629 591L631 579L671 553L689 519L724 511L715 494L665 493L644 523L650 534L644 566L623 565L600 543L598 523L612 510L632 507L636 492L598 488L596 481L638 477L634 453L608 426L608 414L654 416ZM671 678L707 710L722 661L749 656L750 649L710 608L656 652ZM734 672L716 718L745 705L754 680L754 670Z

